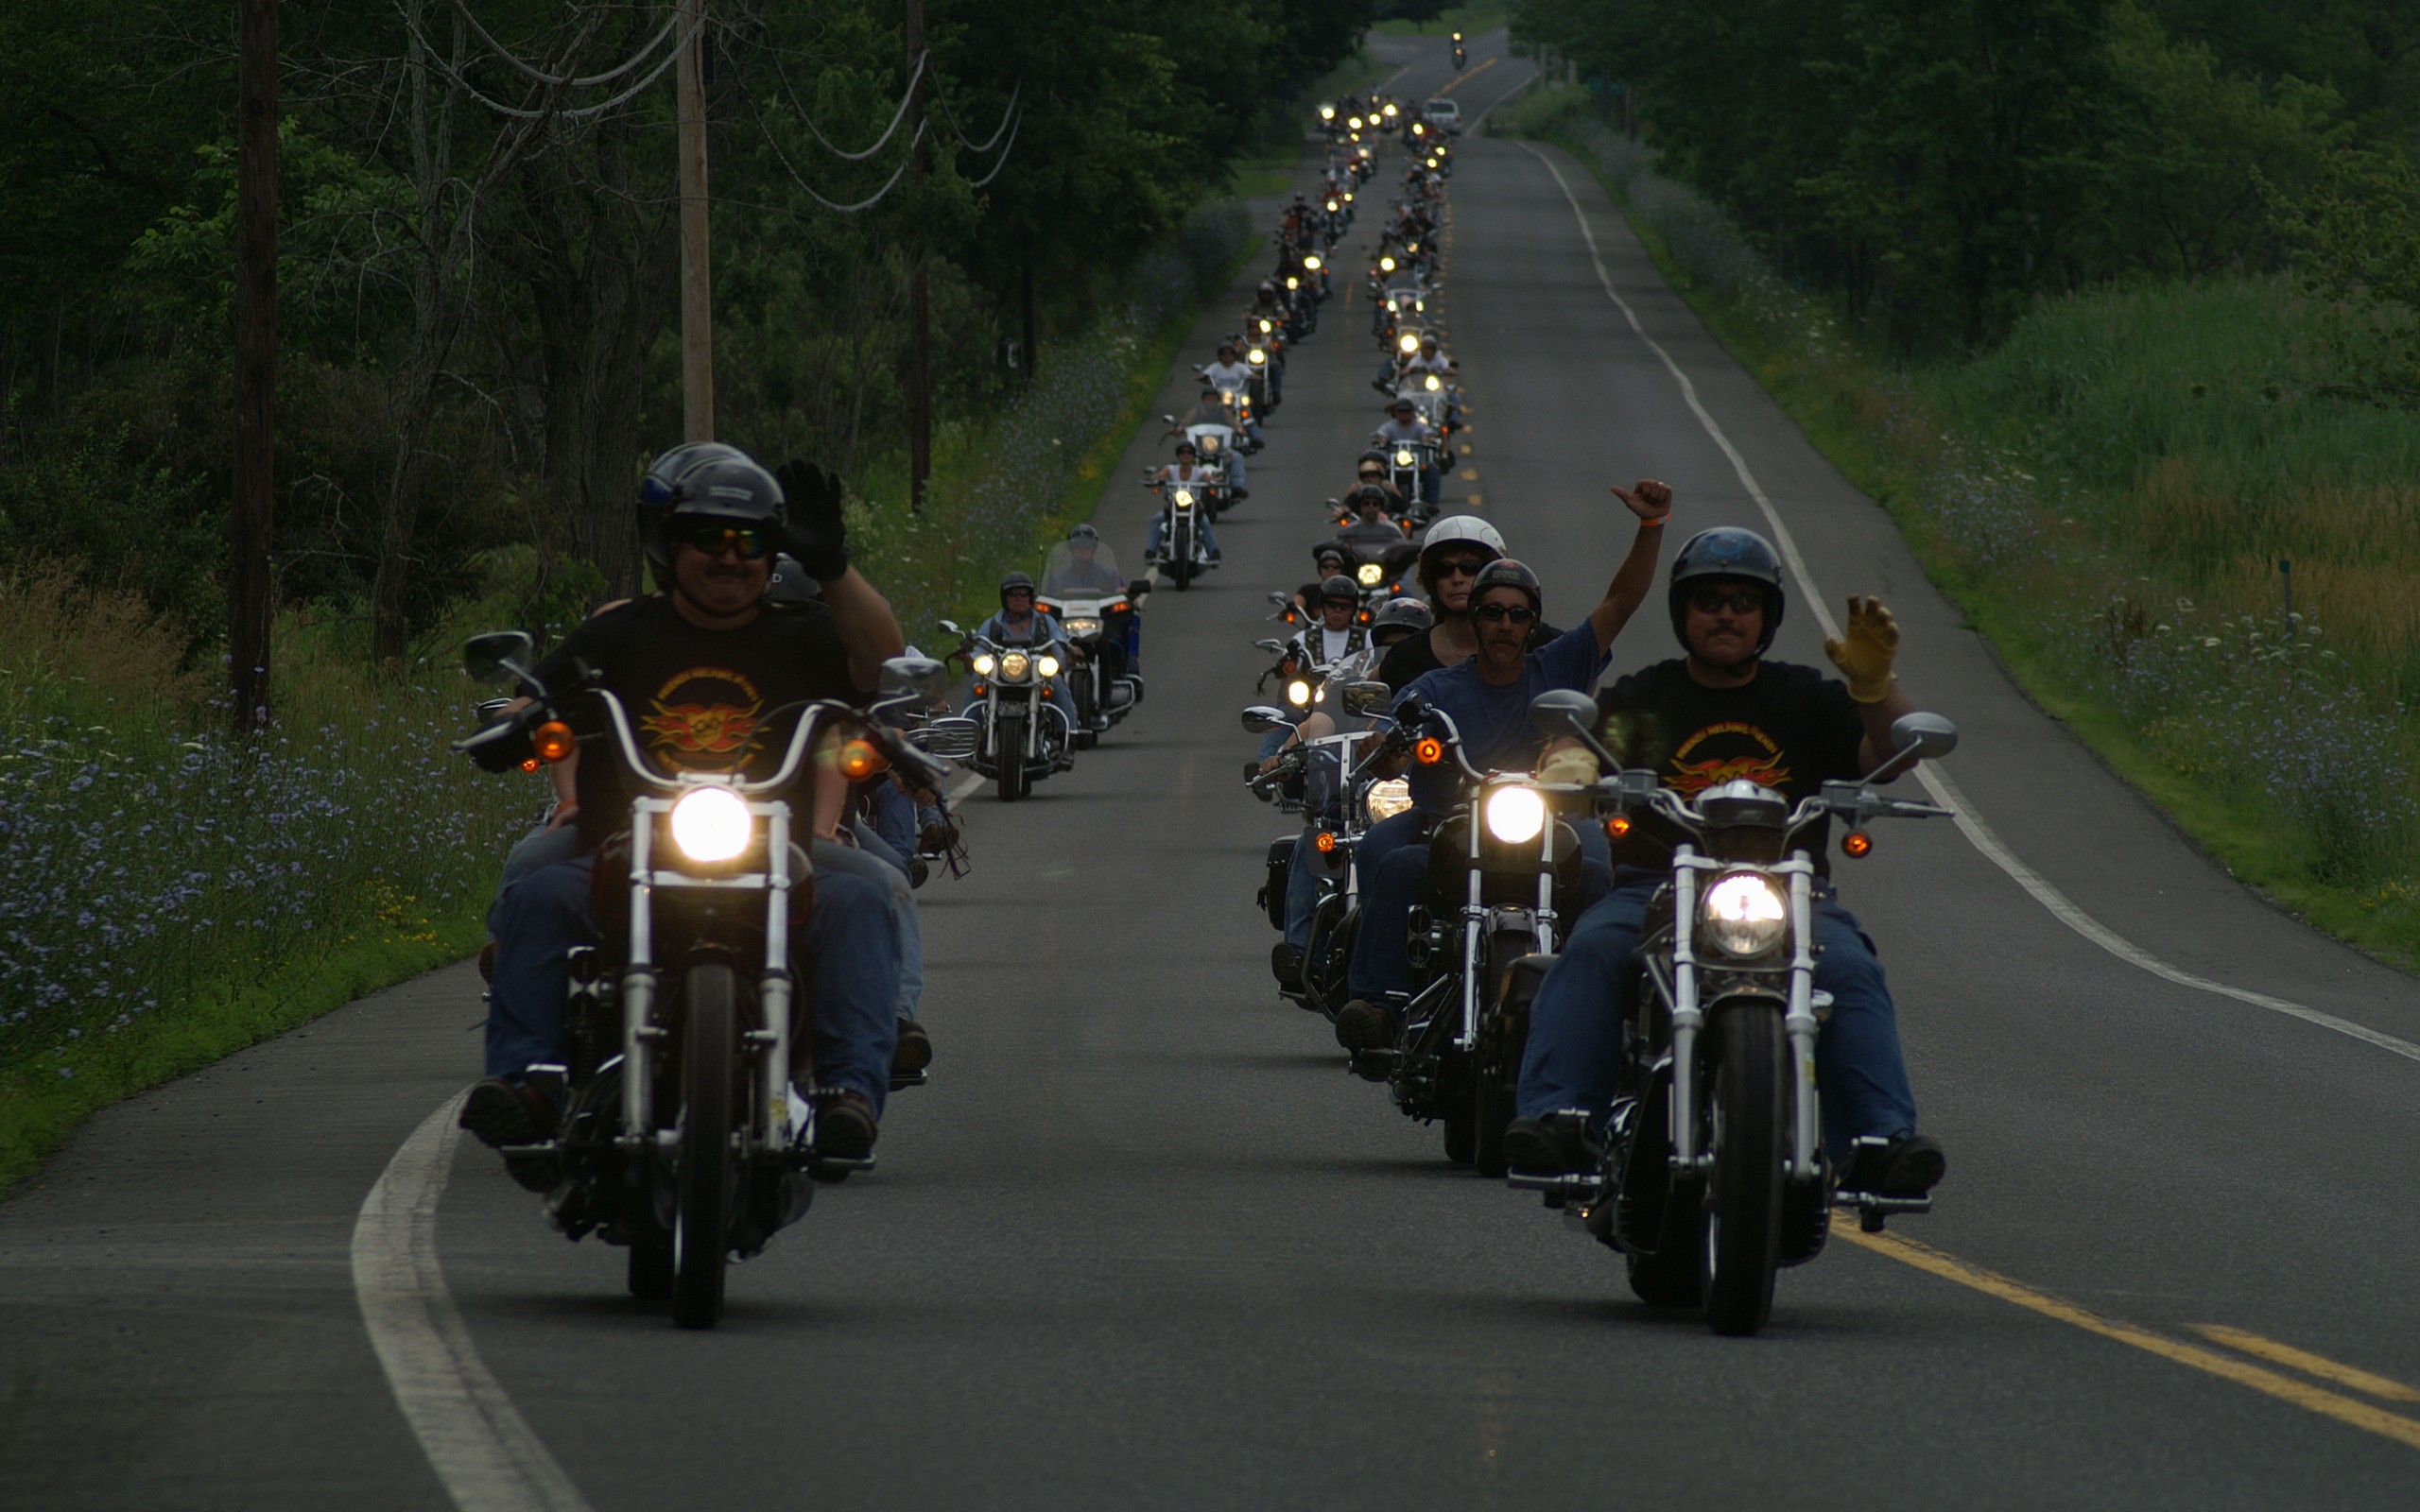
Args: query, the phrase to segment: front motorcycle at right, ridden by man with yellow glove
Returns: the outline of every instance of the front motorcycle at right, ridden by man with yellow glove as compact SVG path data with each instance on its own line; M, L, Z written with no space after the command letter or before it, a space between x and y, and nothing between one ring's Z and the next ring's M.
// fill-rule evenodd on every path
M1951 818L1948 808L1876 791L1909 757L1955 750L1938 714L1890 728L1897 750L1859 781L1827 781L1791 808L1754 781L1684 798L1629 769L1595 738L1595 699L1549 692L1529 704L1549 735L1571 735L1607 772L1590 789L1607 832L1670 847L1672 876L1655 893L1638 977L1621 1031L1621 1074L1600 1168L1580 1176L1515 1173L1549 1207L1621 1251L1631 1289L1658 1306L1701 1306L1716 1333L1754 1333L1774 1304L1774 1272L1822 1253L1830 1210L1871 1234L1931 1198L1834 1190L1815 1091L1815 856L1832 820L1842 849L1873 849L1880 818ZM1546 956L1517 975L1534 994Z

